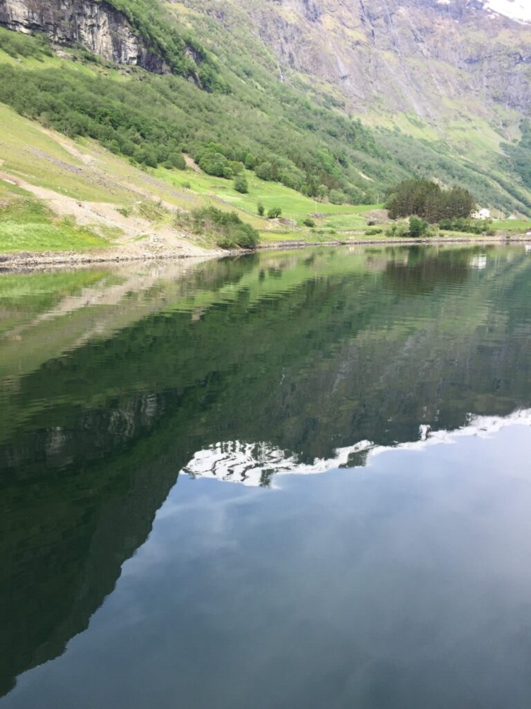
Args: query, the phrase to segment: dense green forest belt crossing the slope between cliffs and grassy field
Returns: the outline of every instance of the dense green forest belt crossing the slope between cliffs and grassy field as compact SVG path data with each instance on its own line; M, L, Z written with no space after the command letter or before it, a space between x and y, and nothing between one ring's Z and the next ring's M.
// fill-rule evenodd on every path
M399 130L371 130L338 110L343 107L330 96L318 92L310 98L299 84L279 82L268 52L238 23L228 31L216 18L198 12L184 28L156 0L111 4L165 57L174 74L151 76L130 68L118 82L98 67L77 72L74 65L65 66L59 72L22 62L11 72L1 67L0 100L67 135L89 135L149 167L169 167L171 154L195 156L215 143L221 150L204 158L212 174L234 179L239 174L234 166L241 162L263 179L331 203L375 203L390 184L412 174L426 179L437 174L481 201L531 213L531 199L517 180L501 174L493 180L486 169ZM32 55L24 43L29 47L33 38L5 31L16 37L12 53ZM202 50L206 45L215 60ZM76 55L83 62L99 61L81 50Z

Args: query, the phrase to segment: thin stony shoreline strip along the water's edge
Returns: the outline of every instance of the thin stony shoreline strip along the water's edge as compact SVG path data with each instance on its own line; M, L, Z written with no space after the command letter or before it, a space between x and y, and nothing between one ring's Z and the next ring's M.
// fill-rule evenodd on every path
M452 245L452 244L478 244L478 245L510 245L510 244L531 244L531 237L450 237L450 238L428 238L428 239L354 239L354 240L333 240L333 241L280 241L271 244L258 245L255 251L275 251L287 249L305 249L309 247L338 247L338 246L416 246L416 245ZM15 252L0 254L0 274L9 272L20 272L36 269L50 268L83 268L94 264L131 263L131 262L154 262L181 259L205 259L224 258L227 256L241 256L253 253L246 249L232 249L228 251L208 250L202 252L157 252L155 254L132 254L113 251L109 253L98 251L90 252Z

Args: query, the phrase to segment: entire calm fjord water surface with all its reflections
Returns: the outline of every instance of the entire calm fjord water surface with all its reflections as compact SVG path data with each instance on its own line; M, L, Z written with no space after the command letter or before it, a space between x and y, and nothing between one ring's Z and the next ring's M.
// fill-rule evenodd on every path
M531 253L0 275L0 708L531 705Z

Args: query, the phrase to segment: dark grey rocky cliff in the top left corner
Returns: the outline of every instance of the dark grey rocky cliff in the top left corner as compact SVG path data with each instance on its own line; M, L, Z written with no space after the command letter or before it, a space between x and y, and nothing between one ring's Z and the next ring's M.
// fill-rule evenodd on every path
M95 0L0 0L0 25L17 32L45 33L59 45L78 44L126 65L164 74L169 67L147 48L122 13Z

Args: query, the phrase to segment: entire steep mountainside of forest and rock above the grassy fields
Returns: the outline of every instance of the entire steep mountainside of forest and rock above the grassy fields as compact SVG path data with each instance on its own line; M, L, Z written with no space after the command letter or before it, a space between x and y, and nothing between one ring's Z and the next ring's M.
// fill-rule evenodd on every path
M0 0L0 25L0 101L145 170L184 151L350 203L423 177L531 214L531 30L480 0Z

